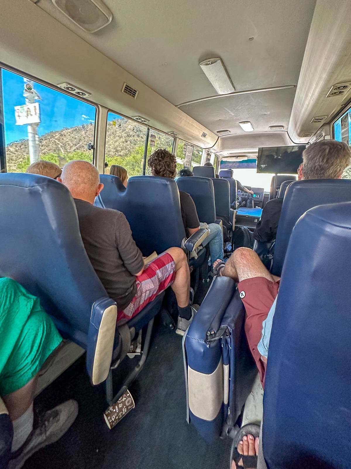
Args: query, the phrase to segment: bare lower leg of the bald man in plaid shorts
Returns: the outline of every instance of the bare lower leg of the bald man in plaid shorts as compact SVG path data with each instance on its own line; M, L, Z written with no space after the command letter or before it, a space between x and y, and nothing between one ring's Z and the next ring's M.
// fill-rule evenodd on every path
M185 252L181 248L169 248L166 250L173 257L176 264L176 276L171 285L180 308L186 308L189 304L190 271Z

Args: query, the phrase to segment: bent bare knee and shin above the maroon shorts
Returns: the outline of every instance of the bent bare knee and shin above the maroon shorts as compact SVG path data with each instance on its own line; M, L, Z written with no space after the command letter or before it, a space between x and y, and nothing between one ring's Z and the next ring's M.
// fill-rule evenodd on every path
M254 277L264 277L271 282L279 280L279 277L268 272L256 252L249 248L236 249L220 273L221 276L230 277L235 282Z

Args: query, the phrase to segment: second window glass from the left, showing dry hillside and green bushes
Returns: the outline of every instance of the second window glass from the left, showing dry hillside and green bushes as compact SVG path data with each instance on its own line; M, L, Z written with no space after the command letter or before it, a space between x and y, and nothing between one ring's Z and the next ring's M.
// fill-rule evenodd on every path
M143 174L147 127L109 112L107 115L105 164L123 166L128 177Z

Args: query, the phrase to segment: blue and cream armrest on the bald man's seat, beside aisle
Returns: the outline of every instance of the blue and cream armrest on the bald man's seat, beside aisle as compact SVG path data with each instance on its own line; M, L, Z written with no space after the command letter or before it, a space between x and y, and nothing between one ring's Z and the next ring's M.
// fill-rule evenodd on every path
M93 385L107 378L116 333L117 304L102 297L92 306L87 344L87 371Z

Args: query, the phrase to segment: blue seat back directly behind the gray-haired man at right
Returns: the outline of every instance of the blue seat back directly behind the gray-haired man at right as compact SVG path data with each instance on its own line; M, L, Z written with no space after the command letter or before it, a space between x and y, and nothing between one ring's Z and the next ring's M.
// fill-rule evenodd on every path
M351 201L351 180L312 179L292 182L285 192L271 272L280 276L292 228L303 213L317 205L348 201Z

